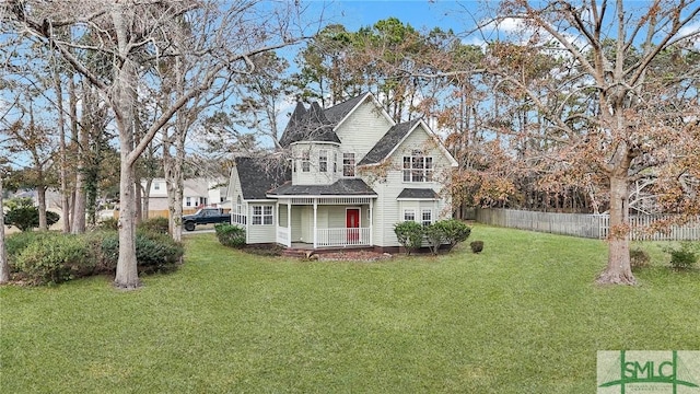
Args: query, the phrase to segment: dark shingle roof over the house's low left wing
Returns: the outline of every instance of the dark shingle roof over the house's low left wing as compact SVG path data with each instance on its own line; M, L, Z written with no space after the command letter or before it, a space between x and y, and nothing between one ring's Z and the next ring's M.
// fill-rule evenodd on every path
M235 158L243 198L267 199L267 192L292 178L287 162L266 158Z

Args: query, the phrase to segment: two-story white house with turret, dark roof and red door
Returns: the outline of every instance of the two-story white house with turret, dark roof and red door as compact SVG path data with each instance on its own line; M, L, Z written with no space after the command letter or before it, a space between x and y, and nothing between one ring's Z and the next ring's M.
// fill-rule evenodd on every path
M442 194L456 161L421 120L395 124L370 93L327 109L301 102L280 144L289 164L236 158L232 222L247 243L399 246L394 224L450 217Z

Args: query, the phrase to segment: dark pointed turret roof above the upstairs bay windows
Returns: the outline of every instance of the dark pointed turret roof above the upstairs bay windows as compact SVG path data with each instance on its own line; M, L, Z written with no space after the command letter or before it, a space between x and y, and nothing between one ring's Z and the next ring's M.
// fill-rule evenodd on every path
M302 102L296 103L296 107L289 119L280 144L289 147L299 141L323 141L340 143L340 139L334 131L334 125L320 108L318 103L313 103L308 109Z

